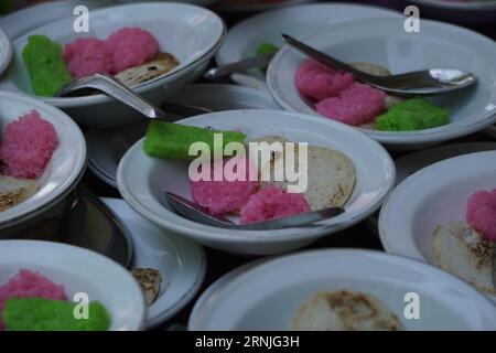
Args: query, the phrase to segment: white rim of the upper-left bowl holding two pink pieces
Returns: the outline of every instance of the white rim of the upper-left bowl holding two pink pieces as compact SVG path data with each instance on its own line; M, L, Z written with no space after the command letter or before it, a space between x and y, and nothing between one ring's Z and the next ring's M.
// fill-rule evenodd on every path
M172 71L169 73L165 73L159 77L155 77L153 79L147 81L144 83L141 83L134 87L132 87L131 89L134 90L138 94L142 94L144 92L149 92L151 89L154 89L157 87L162 86L165 83L172 82L174 79L176 79L177 77L182 77L185 74L190 73L192 69L194 69L197 65L200 65L200 63L202 63L203 61L205 61L206 58L208 58L209 56L212 56L213 54L215 54L215 52L220 47L220 45L224 43L225 36L227 34L227 28L226 24L224 22L224 20L216 14L215 12L198 7L198 6L194 6L194 4L188 4L188 3L180 3L180 2L144 2L144 3L128 3L128 4L118 4L118 6L112 6L112 7L106 7L106 8L101 8L101 9L97 9L94 10L91 13L93 15L98 15L100 13L107 13L107 12L111 12L115 10L119 10L119 9L129 9L129 8L142 8L142 7L158 7L158 8L191 8L191 9L195 9L197 11L203 11L205 13L208 13L209 17L215 18L219 24L220 24L220 34L217 39L215 39L215 42L211 45L211 46L205 46L204 49L204 53L202 55L200 55L197 58L195 58L194 61L192 61L191 63L187 63L186 65L181 65L181 67L176 71ZM67 19L60 19L56 20L54 22L44 24L40 28L36 28L28 33L24 33L23 35L17 38L12 45L14 45L17 42L22 41L24 39L26 39L30 35L35 34L37 31L44 30L46 28L52 28L52 26L56 26L62 22L67 22ZM13 68L11 68L13 69ZM6 76L9 75L9 73L6 73ZM6 77L6 84L10 82L10 79L7 79ZM1 86L0 86L1 89ZM80 106L88 106L88 105L96 105L96 104L101 104L101 103L108 103L108 101L112 101L112 98L105 95L105 94L96 94L96 95L90 95L90 96L83 96L83 97L42 97L42 96L35 96L34 94L30 94L30 93L25 93L23 90L21 90L20 88L18 88L15 86L15 89L18 92L21 92L23 94L26 94L31 97L35 97L37 99L41 99L50 105L54 105L56 107L60 108L73 108L73 107L80 107Z

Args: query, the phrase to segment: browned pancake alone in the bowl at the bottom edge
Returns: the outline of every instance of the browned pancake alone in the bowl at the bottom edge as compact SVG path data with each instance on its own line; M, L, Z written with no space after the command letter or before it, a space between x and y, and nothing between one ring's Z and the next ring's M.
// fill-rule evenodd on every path
M295 313L294 331L400 331L403 325L380 300L358 291L321 291Z

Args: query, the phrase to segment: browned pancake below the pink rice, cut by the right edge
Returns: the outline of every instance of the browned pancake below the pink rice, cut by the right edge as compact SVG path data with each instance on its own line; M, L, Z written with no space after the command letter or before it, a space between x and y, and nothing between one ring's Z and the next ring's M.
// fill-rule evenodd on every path
M479 290L496 295L493 284L495 245L466 223L439 226L432 235L434 263Z

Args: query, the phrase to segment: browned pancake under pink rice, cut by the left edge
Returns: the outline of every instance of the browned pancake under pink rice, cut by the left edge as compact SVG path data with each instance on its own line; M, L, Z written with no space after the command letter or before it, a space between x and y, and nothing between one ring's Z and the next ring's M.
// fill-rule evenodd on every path
M15 179L0 174L0 212L17 206L37 192L36 180Z

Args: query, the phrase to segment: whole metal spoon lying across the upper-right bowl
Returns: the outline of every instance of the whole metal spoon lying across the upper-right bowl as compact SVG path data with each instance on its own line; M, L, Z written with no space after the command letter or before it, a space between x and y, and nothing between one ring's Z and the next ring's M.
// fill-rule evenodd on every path
M291 35L282 34L282 38L289 45L324 65L352 73L358 81L396 95L441 95L477 83L474 74L455 68L431 68L391 76L369 75L295 40Z

